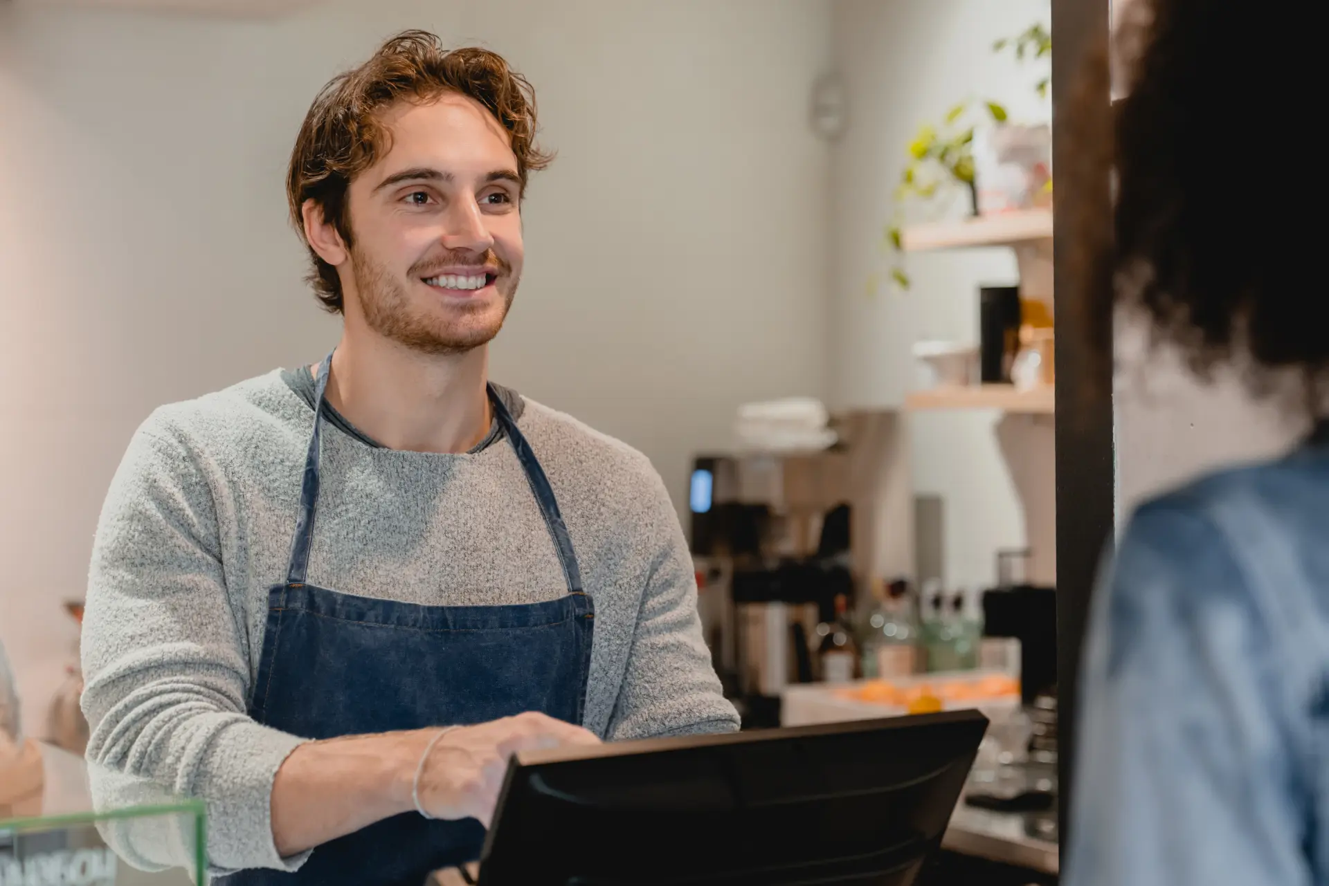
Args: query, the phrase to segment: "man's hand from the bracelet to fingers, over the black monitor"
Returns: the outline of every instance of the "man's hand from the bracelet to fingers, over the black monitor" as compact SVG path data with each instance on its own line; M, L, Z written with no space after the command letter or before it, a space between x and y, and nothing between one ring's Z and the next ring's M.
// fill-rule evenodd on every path
M593 733L544 713L518 713L439 739L420 773L420 806L435 818L478 818L488 828L508 760L520 751L599 744Z

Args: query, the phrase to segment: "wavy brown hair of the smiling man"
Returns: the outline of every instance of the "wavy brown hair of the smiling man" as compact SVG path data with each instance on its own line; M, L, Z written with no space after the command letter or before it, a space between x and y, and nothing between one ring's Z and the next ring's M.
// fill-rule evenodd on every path
M286 177L291 223L304 235L300 207L312 199L332 221L347 246L352 243L347 189L351 179L391 149L380 113L397 101L431 101L459 93L484 105L508 130L525 194L532 170L545 169L553 154L536 146L536 93L530 82L488 49L447 50L427 31L403 31L359 68L334 77L310 105L295 138ZM340 313L342 280L335 267L310 247L307 276L323 307Z

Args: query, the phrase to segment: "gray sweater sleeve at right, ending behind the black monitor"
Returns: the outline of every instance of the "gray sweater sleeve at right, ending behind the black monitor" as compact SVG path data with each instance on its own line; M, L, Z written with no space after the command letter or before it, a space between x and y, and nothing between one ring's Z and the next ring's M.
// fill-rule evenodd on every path
M606 737L734 732L739 715L722 692L702 636L692 557L664 484L654 470L650 480L639 527L655 555Z

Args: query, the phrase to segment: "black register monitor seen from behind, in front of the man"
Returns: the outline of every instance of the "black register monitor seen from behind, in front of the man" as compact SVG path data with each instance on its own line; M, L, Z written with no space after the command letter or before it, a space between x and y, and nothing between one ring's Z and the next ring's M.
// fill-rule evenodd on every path
M987 720L958 711L513 760L481 886L909 886Z

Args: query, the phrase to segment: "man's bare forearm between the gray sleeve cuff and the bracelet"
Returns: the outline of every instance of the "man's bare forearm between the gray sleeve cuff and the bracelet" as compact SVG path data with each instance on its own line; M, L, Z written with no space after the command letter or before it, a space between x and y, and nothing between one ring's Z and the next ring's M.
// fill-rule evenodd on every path
M415 809L416 764L436 729L311 741L272 782L272 840L283 858Z

